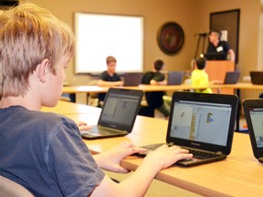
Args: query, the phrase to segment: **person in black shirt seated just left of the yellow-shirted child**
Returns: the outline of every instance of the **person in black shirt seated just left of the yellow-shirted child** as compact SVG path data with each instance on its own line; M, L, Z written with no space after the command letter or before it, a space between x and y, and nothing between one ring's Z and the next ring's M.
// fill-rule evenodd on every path
M142 77L142 84L167 85L165 76L160 71L163 69L163 60L157 59L153 63L153 71L146 72ZM145 92L147 104L150 109L158 109L167 119L170 115L170 107L163 102L164 91Z

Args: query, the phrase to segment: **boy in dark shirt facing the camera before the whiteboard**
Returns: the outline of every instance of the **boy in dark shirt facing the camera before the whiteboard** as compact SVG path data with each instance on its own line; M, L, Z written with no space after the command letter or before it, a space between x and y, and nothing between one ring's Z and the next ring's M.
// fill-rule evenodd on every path
M120 76L115 72L117 59L115 57L109 56L106 58L106 64L108 69L100 74L98 86L107 86L107 87L122 86L123 81L121 81ZM105 93L100 93L98 95L99 107L102 106L105 96L106 96Z

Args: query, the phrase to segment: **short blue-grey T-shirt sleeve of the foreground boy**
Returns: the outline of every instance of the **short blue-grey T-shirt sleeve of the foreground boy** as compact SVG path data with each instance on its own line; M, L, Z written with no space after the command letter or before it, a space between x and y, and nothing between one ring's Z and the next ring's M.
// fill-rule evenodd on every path
M88 196L100 184L104 172L81 140L78 127L63 119L48 139L47 169L64 196Z

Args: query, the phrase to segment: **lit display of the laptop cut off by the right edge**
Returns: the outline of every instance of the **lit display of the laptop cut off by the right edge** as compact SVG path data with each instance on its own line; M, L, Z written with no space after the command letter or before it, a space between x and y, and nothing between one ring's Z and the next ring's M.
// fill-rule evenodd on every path
M249 109L250 119L258 148L263 148L263 108Z

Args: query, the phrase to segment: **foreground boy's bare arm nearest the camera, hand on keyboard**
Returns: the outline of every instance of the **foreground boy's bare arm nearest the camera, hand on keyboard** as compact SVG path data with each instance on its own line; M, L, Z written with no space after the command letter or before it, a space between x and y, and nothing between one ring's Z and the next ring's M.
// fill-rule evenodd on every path
M138 169L121 183L115 183L108 176L105 176L90 196L143 196L159 171L169 167L176 161L192 156L188 153L188 150L163 145L149 153Z

